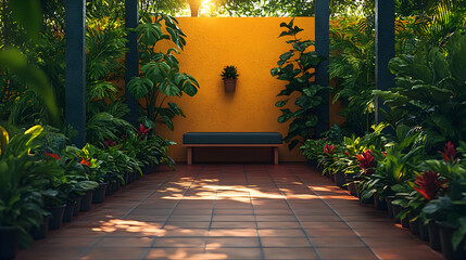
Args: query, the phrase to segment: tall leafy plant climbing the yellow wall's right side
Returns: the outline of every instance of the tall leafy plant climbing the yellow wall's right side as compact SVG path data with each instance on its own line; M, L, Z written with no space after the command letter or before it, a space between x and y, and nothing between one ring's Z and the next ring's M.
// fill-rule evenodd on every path
M270 70L272 76L277 77L278 80L287 81L285 89L277 96L287 96L288 99L277 102L275 106L281 108L278 122L285 123L290 119L292 120L288 134L284 138L284 141L289 143L289 150L315 135L315 127L318 123L316 108L324 102L323 96L331 90L331 87L323 87L313 82L314 69L324 61L324 57L314 51L306 51L307 48L314 46L314 42L298 38L298 34L303 29L294 26L293 23L294 18L288 24L280 24L285 30L279 37L290 37L291 40L287 40L287 43L291 44L292 49L281 54L277 62L278 67ZM294 101L298 108L293 108L293 110L284 108L291 95L294 96L294 94L298 94Z

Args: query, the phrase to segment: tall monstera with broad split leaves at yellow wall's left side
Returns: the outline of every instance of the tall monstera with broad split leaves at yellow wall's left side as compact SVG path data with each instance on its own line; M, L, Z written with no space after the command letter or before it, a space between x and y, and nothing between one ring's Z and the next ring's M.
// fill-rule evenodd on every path
M166 30L168 34L165 34ZM155 17L147 16L137 28L141 57L141 75L131 79L127 86L130 93L142 101L142 121L146 126L154 127L155 122L166 125L174 130L173 118L185 114L174 102L167 102L171 96L189 96L198 93L198 81L188 74L181 73L175 54L179 54L186 40L186 35L178 27L178 22L166 14ZM165 52L156 48L162 40L171 40L176 48Z

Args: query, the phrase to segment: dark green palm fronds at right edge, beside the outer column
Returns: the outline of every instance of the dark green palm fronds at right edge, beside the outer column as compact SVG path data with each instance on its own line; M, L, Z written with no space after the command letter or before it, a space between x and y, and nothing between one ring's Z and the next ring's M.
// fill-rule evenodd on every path
M396 86L375 90L390 106L392 122L420 126L432 146L466 135L466 38L453 35L445 50L419 48L390 61Z

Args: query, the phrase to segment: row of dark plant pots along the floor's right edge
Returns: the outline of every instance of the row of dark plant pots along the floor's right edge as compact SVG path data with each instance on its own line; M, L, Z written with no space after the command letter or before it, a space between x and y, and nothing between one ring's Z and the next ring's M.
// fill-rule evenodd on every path
M466 239L463 239L456 250L453 250L452 236L456 230L452 226L434 221L430 221L428 224L424 224L420 220L410 221L415 217L413 213L404 219L396 218L402 208L400 205L392 204L393 196L388 196L385 200L380 200L377 198L376 194L368 199L361 199L360 193L357 192L357 184L354 183L354 176L338 172L332 177L327 177L333 180L336 185L347 188L351 195L360 197L362 204L374 204L376 209L387 210L389 218L393 219L395 223L400 223L403 227L410 229L413 235L418 236L423 240L428 240L430 247L434 250L442 251L445 259L466 259Z

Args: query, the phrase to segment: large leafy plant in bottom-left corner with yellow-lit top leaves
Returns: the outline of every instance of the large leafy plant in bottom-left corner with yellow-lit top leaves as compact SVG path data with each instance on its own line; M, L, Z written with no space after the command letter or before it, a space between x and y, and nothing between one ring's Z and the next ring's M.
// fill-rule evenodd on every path
M43 194L56 164L30 156L40 145L43 128L35 126L9 140L0 127L0 259L12 259L17 243L27 247L28 231L47 216ZM50 194L53 194L50 191Z

